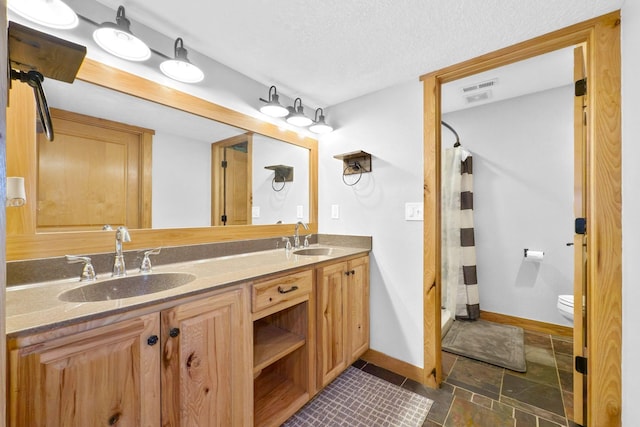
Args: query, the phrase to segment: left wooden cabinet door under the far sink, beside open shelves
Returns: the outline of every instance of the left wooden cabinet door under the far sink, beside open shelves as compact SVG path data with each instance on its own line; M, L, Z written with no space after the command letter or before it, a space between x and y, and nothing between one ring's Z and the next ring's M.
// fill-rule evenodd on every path
M347 263L318 269L318 386L324 387L347 368L345 322Z

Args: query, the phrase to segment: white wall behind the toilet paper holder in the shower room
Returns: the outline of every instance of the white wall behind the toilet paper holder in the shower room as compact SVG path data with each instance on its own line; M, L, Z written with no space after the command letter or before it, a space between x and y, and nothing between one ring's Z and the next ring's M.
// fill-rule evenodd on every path
M573 87L443 120L473 154L480 309L570 325L556 303L573 294ZM443 128L443 149L453 141ZM526 261L524 248L544 260Z

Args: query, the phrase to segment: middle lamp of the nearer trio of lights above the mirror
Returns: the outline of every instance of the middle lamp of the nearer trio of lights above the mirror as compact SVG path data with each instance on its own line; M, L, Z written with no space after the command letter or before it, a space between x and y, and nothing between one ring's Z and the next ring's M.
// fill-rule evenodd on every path
M149 46L131 33L131 21L124 7L118 7L116 22L103 22L93 32L93 39L105 51L129 61L146 61L151 57Z

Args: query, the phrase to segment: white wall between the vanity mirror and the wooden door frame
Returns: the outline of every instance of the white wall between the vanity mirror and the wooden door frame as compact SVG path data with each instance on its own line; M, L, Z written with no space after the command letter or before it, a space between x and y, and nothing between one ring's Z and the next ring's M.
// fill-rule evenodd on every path
M404 220L405 202L422 202L422 84L337 105L331 117L340 123L319 143L320 232L373 236L371 348L422 366L423 227ZM373 171L348 187L333 156L357 150L372 154Z

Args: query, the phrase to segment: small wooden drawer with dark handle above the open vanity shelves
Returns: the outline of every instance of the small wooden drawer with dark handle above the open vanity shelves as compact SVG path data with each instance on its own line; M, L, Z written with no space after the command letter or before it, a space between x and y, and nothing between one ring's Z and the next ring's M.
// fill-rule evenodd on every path
M251 310L260 311L282 301L309 294L312 283L311 270L256 283L251 290Z

